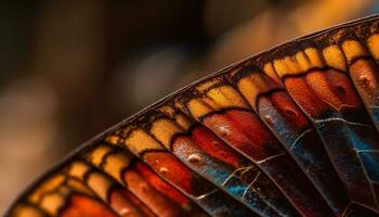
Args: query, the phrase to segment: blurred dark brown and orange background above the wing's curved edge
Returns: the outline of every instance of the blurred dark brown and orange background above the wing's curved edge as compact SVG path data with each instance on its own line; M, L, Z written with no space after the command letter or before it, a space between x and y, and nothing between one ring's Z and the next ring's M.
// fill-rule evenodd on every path
M39 174L134 112L374 0L2 0L0 214Z

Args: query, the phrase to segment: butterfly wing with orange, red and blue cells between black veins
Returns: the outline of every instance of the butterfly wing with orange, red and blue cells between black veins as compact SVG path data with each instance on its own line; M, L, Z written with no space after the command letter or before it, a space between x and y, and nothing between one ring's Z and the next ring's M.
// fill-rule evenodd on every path
M6 215L379 216L379 16L210 75L83 144Z

